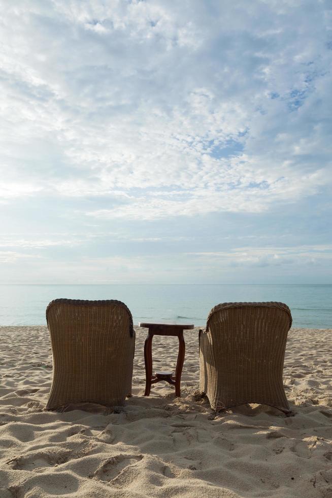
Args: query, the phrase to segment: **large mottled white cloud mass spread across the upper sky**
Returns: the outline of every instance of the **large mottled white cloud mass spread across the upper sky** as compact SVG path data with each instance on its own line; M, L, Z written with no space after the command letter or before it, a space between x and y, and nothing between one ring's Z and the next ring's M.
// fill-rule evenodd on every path
M180 187L189 197L183 213L202 212L202 198L225 191L208 212L256 212L326 182L329 134L317 119L331 83L324 4L313 18L296 3L256 2L253 18L229 3L215 3L214 15L197 2L189 13L160 2L51 6L48 17L38 2L8 9L3 197ZM45 140L55 164L38 146ZM245 153L222 157L229 142ZM262 182L267 189L251 186ZM178 209L163 194L155 209L144 202L128 198L116 215Z

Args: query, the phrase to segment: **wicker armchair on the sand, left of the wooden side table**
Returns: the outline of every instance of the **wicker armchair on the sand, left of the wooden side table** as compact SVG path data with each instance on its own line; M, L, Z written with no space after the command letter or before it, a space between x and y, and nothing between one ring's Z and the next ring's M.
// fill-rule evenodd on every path
M45 410L121 406L131 394L135 331L121 301L55 299L46 309L53 380Z

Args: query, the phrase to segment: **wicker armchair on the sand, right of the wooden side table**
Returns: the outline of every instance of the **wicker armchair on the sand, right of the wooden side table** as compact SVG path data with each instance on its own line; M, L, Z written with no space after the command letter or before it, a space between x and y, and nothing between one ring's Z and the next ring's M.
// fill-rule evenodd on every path
M200 330L200 391L213 410L258 403L289 408L282 382L292 318L279 302L222 303Z

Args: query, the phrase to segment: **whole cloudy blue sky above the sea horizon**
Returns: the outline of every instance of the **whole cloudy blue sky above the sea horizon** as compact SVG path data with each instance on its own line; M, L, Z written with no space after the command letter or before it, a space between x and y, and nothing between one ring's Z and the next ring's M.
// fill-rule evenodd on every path
M332 283L329 0L2 0L0 283Z

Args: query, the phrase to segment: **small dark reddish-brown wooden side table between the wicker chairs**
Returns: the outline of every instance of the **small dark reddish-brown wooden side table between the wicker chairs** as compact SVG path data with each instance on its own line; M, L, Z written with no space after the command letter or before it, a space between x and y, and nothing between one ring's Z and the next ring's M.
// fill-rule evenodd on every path
M149 396L151 384L156 384L160 381L166 381L172 386L175 386L175 395L180 397L181 374L185 354L185 342L183 331L193 329L193 325L173 325L168 323L139 323L139 327L149 329L147 338L144 344L144 361L145 361L145 393L144 396ZM176 363L175 376L171 371L156 371L152 375L152 339L154 335L173 335L179 337L179 353Z

